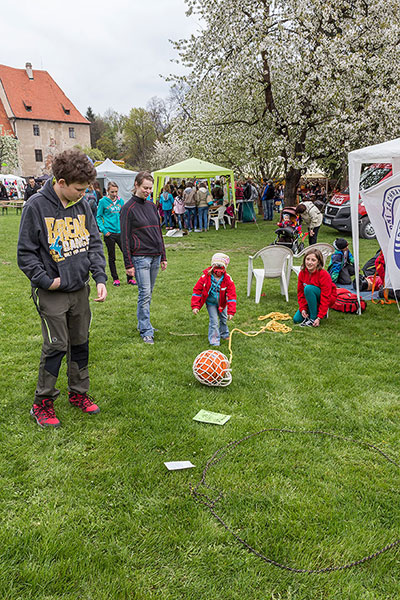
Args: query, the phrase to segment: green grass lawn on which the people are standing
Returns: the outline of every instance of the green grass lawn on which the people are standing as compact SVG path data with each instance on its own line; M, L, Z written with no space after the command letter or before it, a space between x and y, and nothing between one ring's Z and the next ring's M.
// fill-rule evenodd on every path
M136 331L137 289L109 286L104 304L92 302L91 393L101 413L68 404L63 366L62 427L42 430L29 417L41 334L16 263L18 224L19 216L0 216L1 599L400 597L399 549L332 574L282 571L246 551L189 488L215 451L263 428L321 429L400 460L396 305L368 303L361 317L331 310L321 327L287 335L234 334L232 384L208 388L192 374L208 347L208 316L192 315L190 296L213 252L231 257L232 327L258 329L257 317L275 310L293 315L296 281L288 304L278 280L265 282L259 305L254 284L246 297L247 256L275 237L263 221L166 238L168 269L152 302L155 345ZM319 241L335 233L322 227ZM376 248L361 240L361 262ZM120 254L119 267L122 281ZM196 423L200 408L232 418L223 427ZM170 460L196 467L167 472ZM224 492L217 512L240 537L297 568L350 562L400 537L400 468L351 442L266 433L226 455L207 483Z

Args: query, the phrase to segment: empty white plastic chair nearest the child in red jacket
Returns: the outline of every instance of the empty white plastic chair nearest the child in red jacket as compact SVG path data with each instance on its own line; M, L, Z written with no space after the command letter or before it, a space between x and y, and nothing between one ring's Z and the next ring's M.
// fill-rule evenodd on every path
M261 258L264 263L263 269L255 269L253 262L256 258ZM267 246L256 252L254 256L249 256L248 275L247 275L247 296L250 296L253 276L256 278L256 304L260 302L262 286L264 279L280 278L281 294L285 296L286 302L289 302L289 277L292 267L293 252L290 248L284 246Z

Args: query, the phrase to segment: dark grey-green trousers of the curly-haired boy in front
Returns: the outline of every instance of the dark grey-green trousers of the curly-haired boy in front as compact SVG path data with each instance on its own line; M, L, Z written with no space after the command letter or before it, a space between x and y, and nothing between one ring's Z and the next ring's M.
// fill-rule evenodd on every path
M42 320L43 346L35 402L55 400L61 361L67 356L68 390L85 394L89 390L89 285L77 292L36 289L32 296Z

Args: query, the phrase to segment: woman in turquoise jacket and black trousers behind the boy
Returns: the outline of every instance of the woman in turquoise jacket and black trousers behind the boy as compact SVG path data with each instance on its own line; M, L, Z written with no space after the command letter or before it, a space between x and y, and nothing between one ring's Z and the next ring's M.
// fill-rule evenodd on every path
M110 181L107 186L107 196L104 196L99 202L96 218L99 229L104 235L108 265L113 278L113 285L116 287L121 285L115 264L115 246L117 245L122 252L120 212L123 204L124 201L118 198L118 185L115 181ZM135 279L130 275L127 275L126 279L130 285L136 285Z

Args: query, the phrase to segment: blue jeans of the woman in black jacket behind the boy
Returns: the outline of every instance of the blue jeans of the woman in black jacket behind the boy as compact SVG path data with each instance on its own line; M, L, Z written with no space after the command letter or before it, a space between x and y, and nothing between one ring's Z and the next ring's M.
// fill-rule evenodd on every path
M142 337L154 336L150 322L150 302L160 268L161 256L133 256L135 277L138 284L138 330Z

